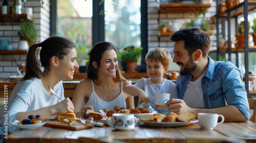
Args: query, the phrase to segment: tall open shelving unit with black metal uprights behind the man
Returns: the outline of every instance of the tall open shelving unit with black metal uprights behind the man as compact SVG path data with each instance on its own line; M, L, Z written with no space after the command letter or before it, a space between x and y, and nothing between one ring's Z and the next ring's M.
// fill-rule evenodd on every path
M248 41L248 12L252 11L256 8L256 1L247 1L245 0L243 3L226 10L225 12L219 13L219 1L216 1L216 15L213 17L216 19L216 29L217 29L217 60L219 60L219 41L220 41L220 33L219 33L219 20L224 19L227 20L227 35L228 35L228 61L231 61L231 54L236 54L236 64L238 63L238 54L244 54L244 66L245 66L245 75L244 75L244 82L245 82L245 89L247 91L247 97L250 98L256 95L256 91L249 91L249 53L254 52L256 53L256 46L249 46L248 42L245 42L244 47L242 50L239 51L232 51L231 50L231 18L235 18L235 30L236 34L238 34L237 27L238 27L238 16L244 15L244 41Z

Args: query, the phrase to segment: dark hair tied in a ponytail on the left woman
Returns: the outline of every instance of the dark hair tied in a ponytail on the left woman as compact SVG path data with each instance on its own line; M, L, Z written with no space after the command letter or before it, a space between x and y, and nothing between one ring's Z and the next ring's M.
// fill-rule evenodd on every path
M40 62L41 66L45 68L43 72L40 68L40 64L36 57L36 49L41 47L40 50ZM41 79L44 73L50 70L50 60L52 56L56 56L59 59L63 59L65 55L69 53L71 49L75 48L72 41L63 37L50 37L41 43L32 45L29 48L27 58L26 58L26 74L23 80L28 80L31 78Z

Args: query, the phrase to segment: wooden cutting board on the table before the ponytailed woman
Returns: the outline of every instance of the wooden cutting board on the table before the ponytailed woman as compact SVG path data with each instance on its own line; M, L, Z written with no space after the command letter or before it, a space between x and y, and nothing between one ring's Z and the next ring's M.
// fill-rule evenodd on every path
M92 124L83 124L80 121L76 121L75 125L69 125L68 123L63 123L60 121L48 121L46 122L46 124L44 125L46 127L53 127L53 128L62 128L62 129L68 129L68 130L83 130L83 129L89 129L89 128L93 128L94 125Z

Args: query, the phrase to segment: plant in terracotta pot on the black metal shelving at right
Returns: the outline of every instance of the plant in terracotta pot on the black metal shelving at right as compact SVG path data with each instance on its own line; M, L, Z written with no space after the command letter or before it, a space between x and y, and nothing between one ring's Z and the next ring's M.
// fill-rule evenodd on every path
M250 23L248 22L248 31L249 31ZM242 21L238 26L238 33L236 35L238 45L237 50L242 50L244 48L244 21ZM248 35L248 40L250 39L251 35ZM249 42L249 41L248 41Z

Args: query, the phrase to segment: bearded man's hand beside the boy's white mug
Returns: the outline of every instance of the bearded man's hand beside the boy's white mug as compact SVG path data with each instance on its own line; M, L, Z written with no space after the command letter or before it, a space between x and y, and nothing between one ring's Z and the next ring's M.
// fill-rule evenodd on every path
M165 105L168 106L169 112L175 112L177 114L182 112L191 112L192 109L181 99L171 99L167 101Z

